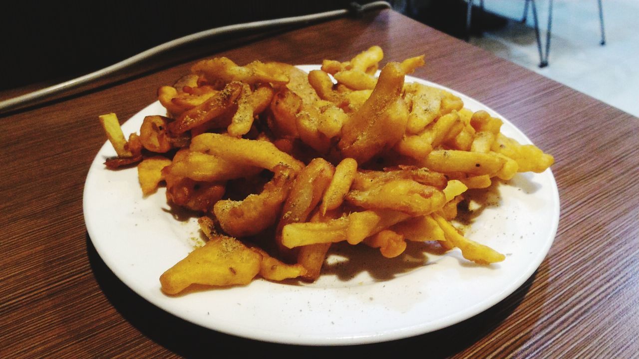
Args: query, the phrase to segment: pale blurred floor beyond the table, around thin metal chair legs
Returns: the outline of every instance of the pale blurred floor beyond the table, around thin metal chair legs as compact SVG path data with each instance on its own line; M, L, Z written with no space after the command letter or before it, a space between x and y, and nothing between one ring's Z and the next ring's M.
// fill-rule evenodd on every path
M553 2L550 65L539 68L532 13L470 42L541 75L639 116L639 0L602 0L606 45L599 45L597 0ZM479 1L475 1L479 3ZM548 0L537 0L545 42ZM486 10L521 19L524 0L485 0Z

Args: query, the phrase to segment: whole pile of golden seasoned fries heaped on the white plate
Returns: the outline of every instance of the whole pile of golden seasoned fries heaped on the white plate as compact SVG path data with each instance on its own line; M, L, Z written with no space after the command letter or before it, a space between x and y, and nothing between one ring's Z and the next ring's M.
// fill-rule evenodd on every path
M137 164L144 195L164 181L169 203L202 213L208 241L162 274L164 293L258 275L313 281L341 241L383 257L433 241L475 263L504 260L450 223L457 206L469 188L543 172L553 157L448 91L404 83L424 56L375 77L382 58L374 46L309 73L208 59L158 90L167 116L147 116L128 141L114 114L100 116L118 155L107 167Z

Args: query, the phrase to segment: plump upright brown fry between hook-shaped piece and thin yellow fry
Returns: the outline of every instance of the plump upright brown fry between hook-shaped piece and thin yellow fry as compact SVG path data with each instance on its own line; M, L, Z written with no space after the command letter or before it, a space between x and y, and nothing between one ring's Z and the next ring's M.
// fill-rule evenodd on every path
M275 231L275 241L284 256L290 257L293 254L282 247L282 228L290 223L307 220L321 200L334 172L333 165L323 158L315 158L295 178Z

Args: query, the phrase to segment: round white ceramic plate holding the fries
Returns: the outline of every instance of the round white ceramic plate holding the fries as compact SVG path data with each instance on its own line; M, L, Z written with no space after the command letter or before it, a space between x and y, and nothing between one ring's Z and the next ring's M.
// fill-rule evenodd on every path
M300 66L311 70L317 66ZM407 77L407 82L431 82ZM441 87L441 86L439 86ZM451 91L451 90L449 90ZM468 96L465 107L485 109ZM155 102L123 125L139 131L144 116L164 114ZM502 132L521 143L524 134L504 119ZM160 275L201 241L196 218L169 211L164 188L142 198L135 168L110 171L108 142L96 156L84 187L84 218L93 245L128 287L158 307L219 332L289 344L363 344L432 332L488 309L534 273L555 238L557 185L550 170L518 174L487 201L497 204L474 218L466 236L506 254L502 263L477 266L458 250L424 254L419 245L385 259L366 246L335 246L321 278L312 284L256 279L248 286L170 297ZM416 248L414 248L416 247ZM355 249L355 250L353 250Z

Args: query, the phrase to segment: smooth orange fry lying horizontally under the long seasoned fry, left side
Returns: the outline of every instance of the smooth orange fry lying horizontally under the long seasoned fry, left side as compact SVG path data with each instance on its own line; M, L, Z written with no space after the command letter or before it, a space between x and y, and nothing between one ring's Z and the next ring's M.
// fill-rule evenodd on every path
M231 162L215 155L195 151L184 151L183 157L173 160L166 173L187 177L195 181L214 182L254 176L261 168L242 162Z

